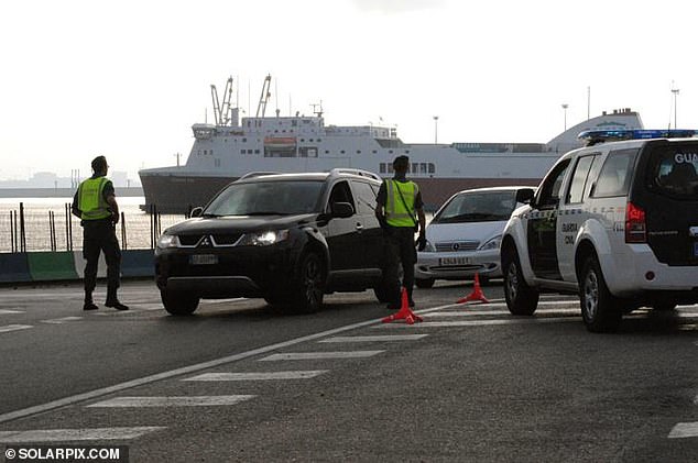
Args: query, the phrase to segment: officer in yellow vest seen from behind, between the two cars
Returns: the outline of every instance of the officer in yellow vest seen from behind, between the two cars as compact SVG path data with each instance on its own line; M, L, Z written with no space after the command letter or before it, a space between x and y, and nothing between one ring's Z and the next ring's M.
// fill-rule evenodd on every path
M391 286L390 309L401 306L401 284L399 269L402 263L402 286L407 290L410 306L414 307L412 289L414 286L414 264L417 262L414 234L419 232L417 245L421 250L426 245L426 219L419 187L407 180L410 158L397 156L393 161L394 177L384 180L378 191L375 217L378 218L386 246L386 275Z

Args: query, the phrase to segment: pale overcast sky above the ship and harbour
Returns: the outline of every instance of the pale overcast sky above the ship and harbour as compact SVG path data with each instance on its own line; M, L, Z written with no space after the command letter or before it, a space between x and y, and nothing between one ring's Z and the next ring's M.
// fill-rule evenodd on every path
M271 75L268 115L321 102L326 124L406 143L544 143L618 108L698 129L697 16L685 0L6 1L0 180L184 162L230 76L247 113Z

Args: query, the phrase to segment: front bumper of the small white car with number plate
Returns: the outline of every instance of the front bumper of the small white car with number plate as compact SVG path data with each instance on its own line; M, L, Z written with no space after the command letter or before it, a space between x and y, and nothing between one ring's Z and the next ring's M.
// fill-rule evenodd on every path
M487 277L501 277L499 250L473 252L419 252L415 265L415 278L461 279L475 274Z

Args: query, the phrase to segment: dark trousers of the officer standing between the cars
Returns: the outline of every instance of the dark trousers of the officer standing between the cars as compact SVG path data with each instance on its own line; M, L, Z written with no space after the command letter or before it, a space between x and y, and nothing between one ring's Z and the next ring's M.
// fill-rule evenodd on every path
M417 262L417 250L414 247L414 228L388 225L383 229L383 235L385 236L385 258L388 261L385 279L391 291L390 304L393 308L400 308L402 286L407 290L410 305L414 306L412 290L414 288L414 264ZM400 264L402 264L402 284L400 283Z

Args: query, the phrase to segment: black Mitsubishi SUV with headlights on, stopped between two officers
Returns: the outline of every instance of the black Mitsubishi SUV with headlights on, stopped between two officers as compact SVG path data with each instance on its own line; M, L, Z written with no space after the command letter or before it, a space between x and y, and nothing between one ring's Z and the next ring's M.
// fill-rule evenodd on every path
M315 311L323 295L373 288L385 302L381 178L357 169L247 175L161 235L155 279L165 309L200 298L263 297Z

